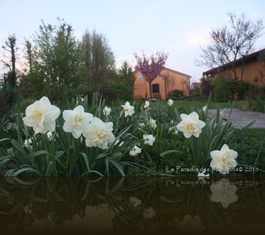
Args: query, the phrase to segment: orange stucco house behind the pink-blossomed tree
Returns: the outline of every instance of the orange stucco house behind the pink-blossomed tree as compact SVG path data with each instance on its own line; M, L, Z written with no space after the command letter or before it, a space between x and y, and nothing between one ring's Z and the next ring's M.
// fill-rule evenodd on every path
M134 72L135 99L150 98L149 83L144 79L144 76L139 70ZM182 74L175 70L164 67L160 75L152 81L152 97L158 100L168 99L168 92L178 89L183 90L185 96L189 96L191 76Z

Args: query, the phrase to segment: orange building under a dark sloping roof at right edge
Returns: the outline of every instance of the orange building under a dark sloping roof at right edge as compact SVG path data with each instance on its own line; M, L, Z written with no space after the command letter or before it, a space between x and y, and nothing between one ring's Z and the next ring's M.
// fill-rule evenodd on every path
M235 69L238 80L241 80L242 63L244 63L242 81L255 84L258 87L265 85L265 67L264 63L258 60L260 53L265 53L265 49L252 53L244 59L239 58L235 61ZM212 68L203 74L208 78L213 78L217 74L222 74L226 78L233 78L232 63L224 64L216 68Z

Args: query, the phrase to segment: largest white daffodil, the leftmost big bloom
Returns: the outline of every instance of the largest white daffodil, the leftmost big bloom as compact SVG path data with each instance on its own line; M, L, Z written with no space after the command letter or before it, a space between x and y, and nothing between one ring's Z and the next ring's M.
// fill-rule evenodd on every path
M24 124L33 127L35 134L53 132L55 130L56 119L60 115L60 109L54 105L47 97L42 97L26 108L26 116L23 117Z

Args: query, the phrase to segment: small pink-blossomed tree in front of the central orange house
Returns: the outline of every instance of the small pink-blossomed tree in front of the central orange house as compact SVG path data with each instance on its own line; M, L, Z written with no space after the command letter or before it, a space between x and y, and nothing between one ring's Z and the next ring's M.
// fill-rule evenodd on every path
M135 69L139 70L145 77L145 80L149 83L150 98L152 99L152 81L157 78L164 68L168 53L157 52L156 55L152 53L150 58L144 53L143 57L138 56L136 53L134 56L137 63Z

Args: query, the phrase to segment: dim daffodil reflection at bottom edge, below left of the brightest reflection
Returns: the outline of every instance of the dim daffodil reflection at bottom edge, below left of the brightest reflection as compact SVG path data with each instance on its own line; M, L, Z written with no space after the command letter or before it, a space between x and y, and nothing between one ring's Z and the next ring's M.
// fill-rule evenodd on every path
M182 232L202 232L205 230L205 226L202 225L202 220L198 215L194 216L193 218L190 215L186 215L183 218L183 221L180 221L176 224Z

